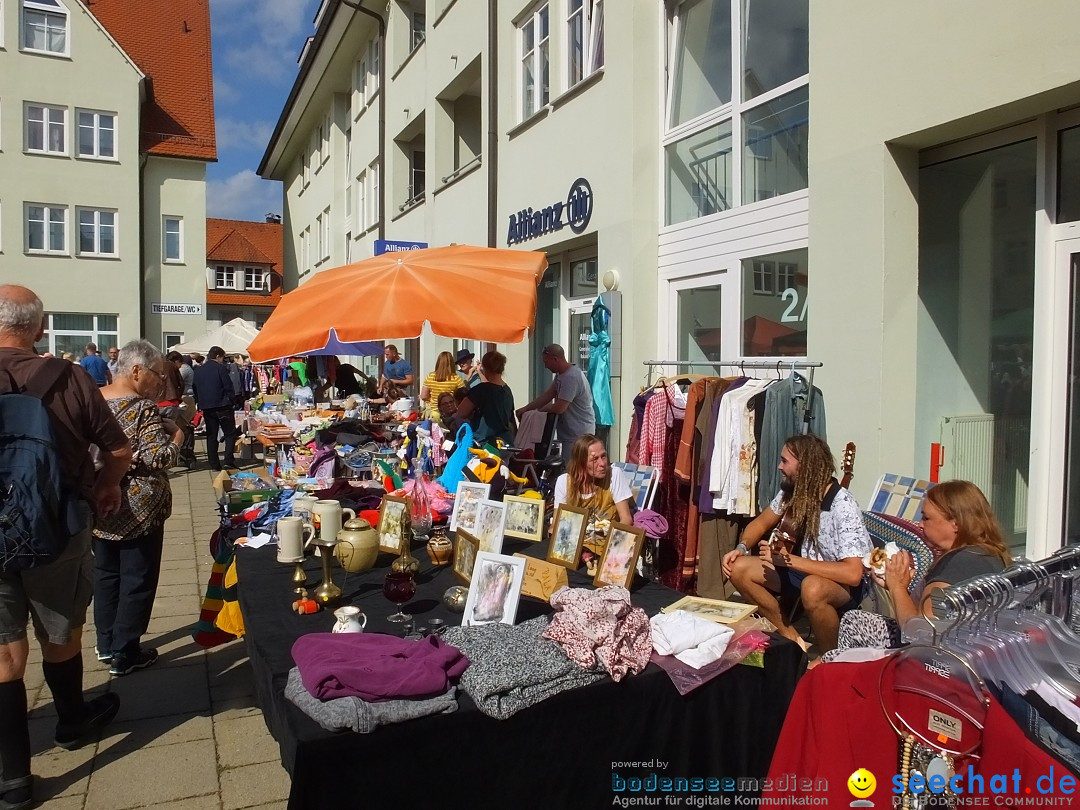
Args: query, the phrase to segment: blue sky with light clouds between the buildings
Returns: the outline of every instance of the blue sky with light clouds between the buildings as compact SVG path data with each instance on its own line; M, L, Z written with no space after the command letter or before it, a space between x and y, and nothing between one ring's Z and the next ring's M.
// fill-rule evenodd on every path
M296 79L319 0L210 0L217 163L206 215L261 221L281 214L281 184L256 174Z

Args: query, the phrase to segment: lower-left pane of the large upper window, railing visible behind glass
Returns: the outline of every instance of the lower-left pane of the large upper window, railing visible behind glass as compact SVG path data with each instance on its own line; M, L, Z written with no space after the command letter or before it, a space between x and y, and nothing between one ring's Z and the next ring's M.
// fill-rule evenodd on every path
M711 126L665 149L666 225L731 207L731 122Z

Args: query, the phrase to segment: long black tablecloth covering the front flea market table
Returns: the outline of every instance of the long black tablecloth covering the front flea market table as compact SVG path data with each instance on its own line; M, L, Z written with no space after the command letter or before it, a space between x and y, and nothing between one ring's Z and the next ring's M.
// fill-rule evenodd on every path
M540 555L545 545L508 540L503 552ZM420 548L414 553L421 567L406 612L418 627L435 617L459 624L460 615L441 600L447 588L458 584L450 567L432 566ZM374 569L348 577L335 563L341 604L364 610L367 632L402 633L401 624L386 621L394 606L382 596L382 579L392 559L380 554ZM309 558L305 568L313 590L322 579L321 562ZM278 563L274 546L238 549L237 569L257 699L293 779L291 810L600 808L611 807L618 796L664 795L620 792L619 780L626 778L764 779L806 665L796 645L773 636L765 669L734 666L687 696L650 665L618 684L604 678L563 692L507 720L483 714L459 691L460 708L454 714L383 726L369 734L335 733L284 697L293 643L306 633L328 632L333 612L301 617L289 609L297 598L294 566ZM588 582L570 572L571 586ZM631 592L632 603L649 616L679 596L640 580ZM550 611L546 604L523 597L517 621ZM745 781L735 787L727 795L758 793ZM719 793L681 793L689 795Z

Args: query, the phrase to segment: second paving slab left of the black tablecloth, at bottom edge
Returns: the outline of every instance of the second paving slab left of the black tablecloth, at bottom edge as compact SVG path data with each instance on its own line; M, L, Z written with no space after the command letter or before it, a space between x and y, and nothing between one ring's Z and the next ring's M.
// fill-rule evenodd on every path
M218 789L214 746L205 741L107 751L95 761L86 810L157 806Z

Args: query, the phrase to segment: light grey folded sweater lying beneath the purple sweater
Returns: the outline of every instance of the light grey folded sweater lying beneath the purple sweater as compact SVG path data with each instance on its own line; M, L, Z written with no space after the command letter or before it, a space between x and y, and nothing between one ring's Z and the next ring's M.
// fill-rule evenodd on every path
M327 731L352 729L362 734L391 723L458 711L457 689L453 686L444 694L421 700L383 700L369 703L360 698L334 698L322 701L303 688L300 671L295 666L288 671L285 697Z

